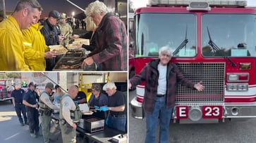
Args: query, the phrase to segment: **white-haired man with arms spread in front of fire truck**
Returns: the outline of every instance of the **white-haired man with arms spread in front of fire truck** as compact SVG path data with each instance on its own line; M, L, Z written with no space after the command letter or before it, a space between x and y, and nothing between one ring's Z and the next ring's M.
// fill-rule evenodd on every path
M192 83L185 79L176 64L171 60L171 49L159 49L159 59L152 60L129 81L129 88L145 81L145 96L142 104L146 113L147 134L145 142L156 142L158 118L160 120L159 142L168 142L169 123L175 105L177 84L202 91L201 83ZM160 114L161 112L161 114Z

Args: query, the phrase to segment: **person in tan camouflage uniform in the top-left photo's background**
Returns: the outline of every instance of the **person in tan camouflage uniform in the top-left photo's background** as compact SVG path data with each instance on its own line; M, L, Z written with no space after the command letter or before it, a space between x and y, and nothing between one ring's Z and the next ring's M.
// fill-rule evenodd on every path
M58 23L59 28L61 30L61 34L63 34L64 39L60 42L61 45L68 45L69 41L72 39L73 29L71 25L68 25L66 13L61 13L61 22Z

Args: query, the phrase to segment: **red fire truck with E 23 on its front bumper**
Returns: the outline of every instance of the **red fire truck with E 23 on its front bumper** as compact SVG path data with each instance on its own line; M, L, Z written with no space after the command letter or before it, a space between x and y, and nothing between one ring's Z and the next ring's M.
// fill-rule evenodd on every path
M203 92L177 87L173 121L218 123L256 117L256 8L247 1L151 0L135 11L135 57L129 69L158 57L162 46L185 77L202 81ZM143 118L145 83L131 101L135 118Z

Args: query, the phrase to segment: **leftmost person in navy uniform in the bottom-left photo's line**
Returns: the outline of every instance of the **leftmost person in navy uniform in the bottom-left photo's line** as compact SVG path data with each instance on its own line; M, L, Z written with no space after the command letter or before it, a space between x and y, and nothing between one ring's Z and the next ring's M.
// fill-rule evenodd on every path
M14 90L11 92L11 97L13 97L13 107L15 108L16 114L18 116L18 120L20 121L20 125L28 125L28 118L25 109L25 105L23 104L23 95L25 91L20 88L18 84L13 85ZM23 114L23 118L25 124L23 122L23 118L21 117L21 113Z

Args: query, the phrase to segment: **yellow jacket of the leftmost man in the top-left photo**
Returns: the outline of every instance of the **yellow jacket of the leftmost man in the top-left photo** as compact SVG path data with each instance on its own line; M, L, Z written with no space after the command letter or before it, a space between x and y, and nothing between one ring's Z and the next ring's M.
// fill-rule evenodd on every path
M23 34L12 16L0 22L0 71L29 71L24 60Z

